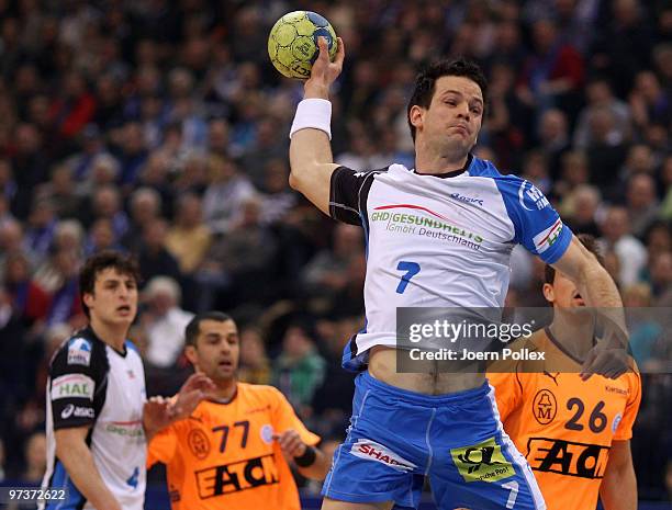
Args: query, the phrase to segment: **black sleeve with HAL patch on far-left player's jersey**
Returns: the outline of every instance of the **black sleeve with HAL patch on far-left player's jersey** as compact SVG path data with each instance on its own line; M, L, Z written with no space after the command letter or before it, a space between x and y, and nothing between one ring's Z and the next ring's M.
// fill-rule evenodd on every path
M49 366L47 398L54 430L90 427L102 410L108 382L104 347L76 337L65 342Z

